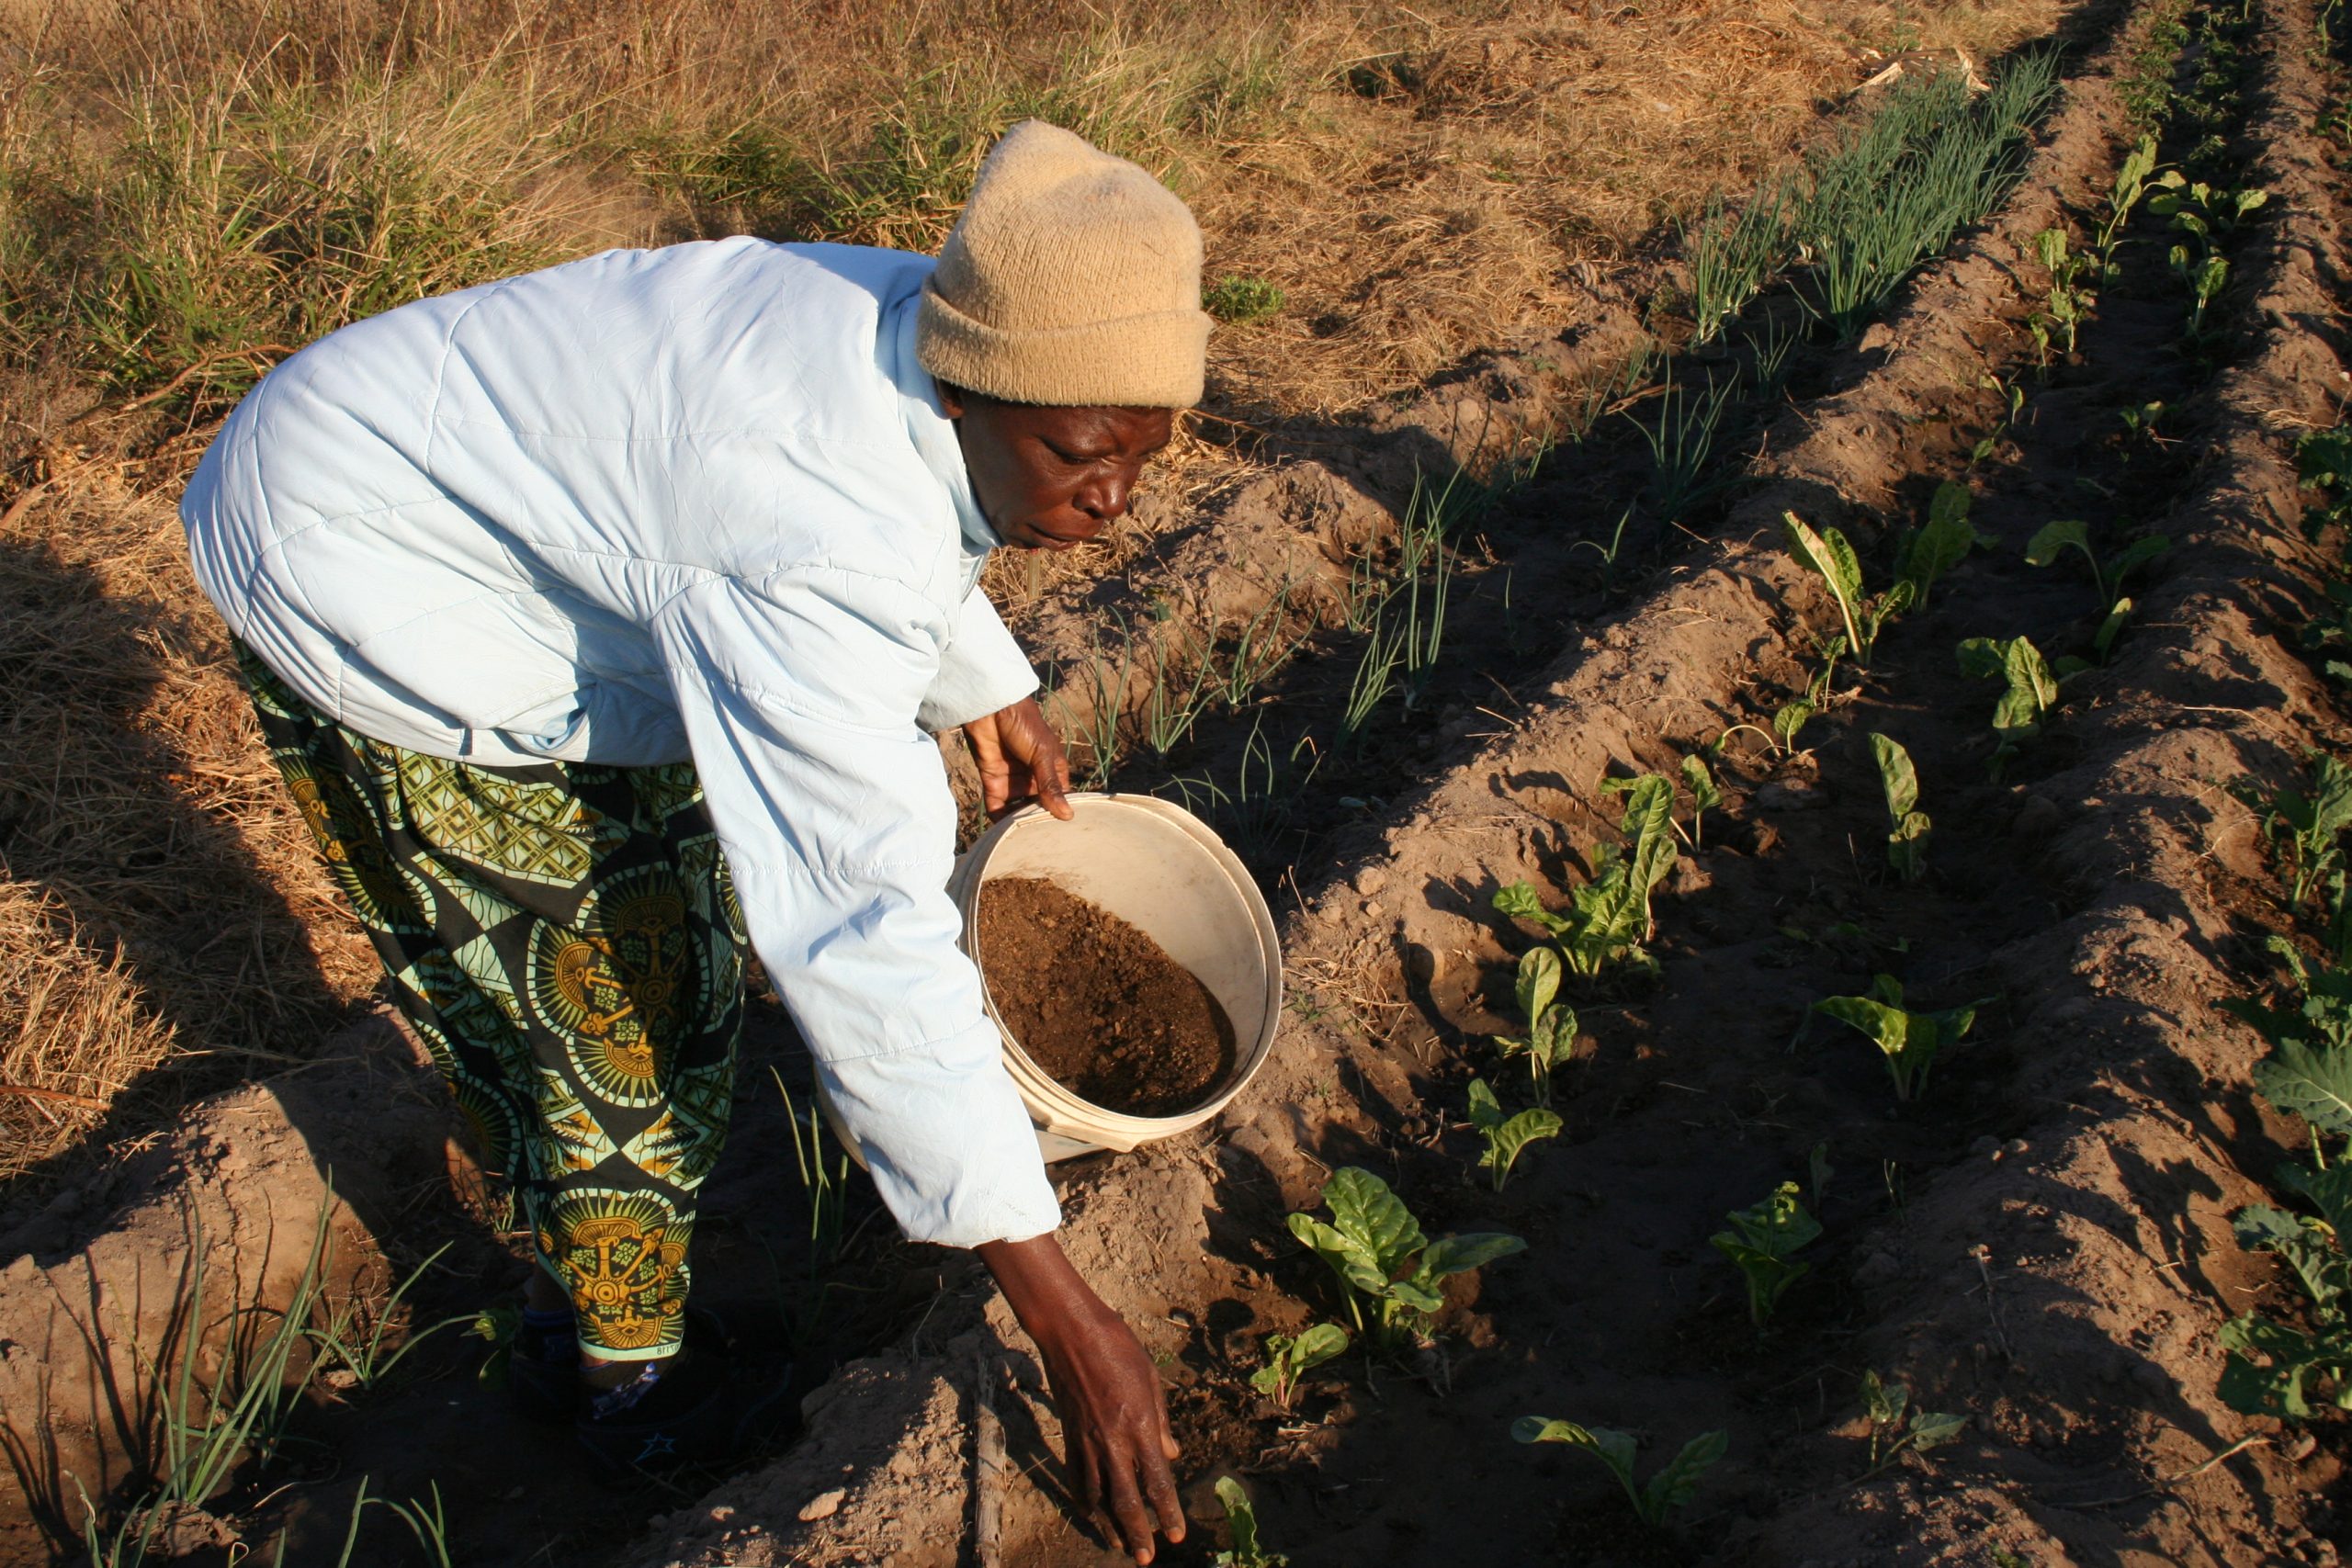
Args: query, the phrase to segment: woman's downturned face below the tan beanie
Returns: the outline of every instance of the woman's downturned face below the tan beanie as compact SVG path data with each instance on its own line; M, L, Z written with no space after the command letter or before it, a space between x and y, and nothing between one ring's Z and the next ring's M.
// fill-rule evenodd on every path
M938 397L964 447L981 515L1009 545L1068 550L1127 512L1143 463L1169 444L1169 409L1051 409L948 383Z

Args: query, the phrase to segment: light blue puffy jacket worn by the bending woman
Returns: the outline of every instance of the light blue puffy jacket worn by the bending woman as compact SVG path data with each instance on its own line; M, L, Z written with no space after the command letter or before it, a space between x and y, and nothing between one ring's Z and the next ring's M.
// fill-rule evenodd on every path
M188 484L195 576L287 684L485 764L691 755L743 914L917 1241L1061 1220L957 950L927 731L1037 679L915 364L931 261L722 240L306 348Z

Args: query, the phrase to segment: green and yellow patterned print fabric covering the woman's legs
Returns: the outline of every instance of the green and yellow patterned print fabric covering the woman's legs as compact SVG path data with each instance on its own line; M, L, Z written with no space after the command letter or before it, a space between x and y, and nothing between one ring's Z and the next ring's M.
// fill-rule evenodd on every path
M489 769L348 731L238 649L278 771L541 1265L609 1359L677 1349L727 1140L743 914L691 764Z

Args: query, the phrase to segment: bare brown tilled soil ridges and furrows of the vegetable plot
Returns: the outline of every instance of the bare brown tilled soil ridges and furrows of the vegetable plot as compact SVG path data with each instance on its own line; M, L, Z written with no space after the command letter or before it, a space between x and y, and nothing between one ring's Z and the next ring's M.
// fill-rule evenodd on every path
M2345 179L2310 129L2343 103L2345 75L2314 54L2303 0L2260 0L2244 28L2223 14L2201 24L2178 85L2232 40L2244 49L2244 103L2206 158L2272 190L2232 249L2227 327L2197 353L2180 346L2169 235L2143 212L2079 350L2042 376L2025 334L2046 289L2032 237L2049 223L2079 237L2096 216L2136 134L2117 75L2152 9L2114 0L2072 16L2070 89L2016 197L1858 343L1797 353L1726 442L1743 484L1710 510L1642 510L1630 425L1644 404L1618 383L1639 322L1597 306L1374 425L1294 433L1272 475L1178 508L1117 583L1049 585L1025 609L1018 630L1049 665L1082 658L1110 609L1145 604L1167 616L1127 618L1188 637L1160 646L1197 649L1282 599L1294 649L1270 703L1214 715L1185 750L1120 776L1169 790L1230 780L1268 738L1272 757L1298 759L1270 820L1237 811L1230 790L1202 806L1249 844L1287 914L1294 1006L1275 1060L1211 1128L1058 1168L1063 1241L1164 1368L1185 1443L1197 1526L1162 1561L1211 1559L1221 1474L1249 1481L1268 1544L1301 1568L2251 1568L2336 1561L2347 1544L2343 1427L2298 1434L2213 1394L2218 1326L2284 1300L2270 1260L2237 1248L2230 1213L2296 1140L2251 1093L2258 1044L2213 1009L2258 990L2272 969L2263 940L2293 931L2232 783L2288 783L2307 748L2352 741L2296 646L2333 550L2298 529L2291 456L2291 437L2331 425L2352 386ZM2169 127L2164 158L2190 158L2194 139ZM1780 296L1759 313L1795 310ZM2009 388L2025 393L2013 418ZM2164 402L2154 440L2119 418L2147 402ZM1329 736L1345 701L1362 637L1338 595L1355 555L1390 548L1414 473L1451 473L1482 442L1491 454L1498 430L1555 423L1571 440L1472 524L1425 708L1348 755L1296 750L1298 733ZM1780 543L1785 508L1849 529L1882 583L1893 534L1945 480L1971 489L1994 543L1898 621L1867 670L1839 665L1835 701L1795 755L1731 738L1726 802L1656 903L1661 978L1571 997L1583 1039L1555 1095L1566 1126L1494 1192L1465 1084L1505 1081L1489 1041L1517 1025L1510 971L1529 945L1491 912L1494 889L1526 877L1564 903L1613 839L1606 776L1672 771L1804 689L1835 609ZM1578 545L1609 543L1628 498L1623 564L1602 574ZM2023 562L2053 517L2086 517L2110 559L2143 531L2171 548L2133 583L2107 663L2067 682L2060 712L1992 780L1994 691L1957 670L1952 646L2025 632L2053 656L2091 654L2107 609L2077 567ZM1084 689L1063 693L1082 719ZM1933 818L1915 884L1889 875L1879 849L1875 731L1907 745ZM1994 999L1912 1105L1893 1103L1858 1037L1806 1027L1811 1001L1872 973L1900 978L1915 1006ZM769 1030L755 1065L779 1065L802 1093L800 1058ZM379 1046L360 1060L390 1058ZM0 1293L0 1371L16 1378L0 1385L0 1410L19 1439L26 1410L40 1413L35 1429L80 1432L106 1408L87 1373L28 1392L40 1352L26 1349L73 1340L78 1319L54 1293L99 1298L101 1267L127 1276L129 1255L106 1262L99 1244L132 1237L108 1246L169 1255L160 1232L139 1239L136 1225L158 1222L132 1220L169 1213L162 1199L207 1168L200 1154L240 1140L268 1150L287 1185L238 1206L306 1222L320 1161L386 1145L372 1143L383 1128L358 1135L353 1117L303 1095L407 1105L381 1072L346 1063L205 1105L151 1164L108 1166L54 1213L0 1215L49 1281L12 1276ZM308 1147L285 1128L308 1128ZM769 1159L729 1161L713 1180L696 1269L710 1291L769 1267L795 1288L811 1279L804 1302L854 1302L818 1312L835 1328L809 1338L811 1363L873 1354L811 1392L800 1443L713 1490L696 1479L637 1502L567 1493L553 1450L470 1403L477 1349L442 1340L447 1354L433 1361L428 1345L407 1387L353 1396L353 1420L329 1427L341 1472L294 1486L296 1526L313 1535L287 1561L310 1561L308 1542L339 1528L362 1469L397 1474L400 1495L440 1476L475 1561L962 1561L983 1385L1014 1455L1004 1559L1115 1561L1049 1458L1051 1403L985 1276L955 1253L882 1244L863 1190L849 1215L863 1241L811 1269L793 1234L804 1192L776 1173L781 1135L776 1100L746 1098L739 1150ZM1451 1281L1430 1347L1352 1349L1298 1408L1277 1410L1249 1389L1265 1335L1345 1316L1284 1215L1312 1208L1348 1164L1388 1180L1430 1234L1510 1229L1529 1251ZM353 1199L374 1237L470 1248L428 1276L449 1305L428 1302L419 1321L520 1274L496 1218L459 1211L437 1171L369 1171L376 1180L381 1197ZM1780 1180L1818 1182L1806 1201L1825 1234L1759 1335L1708 1237ZM85 1246L87 1279L73 1272ZM769 1251L781 1269L762 1265ZM1969 1425L1933 1455L1872 1469L1863 1373ZM1590 1460L1510 1441L1531 1413L1635 1432L1644 1474L1698 1432L1724 1432L1729 1453L1675 1528L1642 1533ZM376 1425L397 1443L372 1439ZM430 1443L456 1443L456 1462L386 1469ZM38 1561L31 1526L12 1549Z

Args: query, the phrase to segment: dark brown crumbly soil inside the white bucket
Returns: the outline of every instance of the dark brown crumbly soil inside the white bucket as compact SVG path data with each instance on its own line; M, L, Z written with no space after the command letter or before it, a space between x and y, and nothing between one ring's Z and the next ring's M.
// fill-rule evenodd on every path
M1063 1088L1174 1117L1232 1072L1232 1020L1160 943L1037 877L981 884L981 969L997 1016Z

